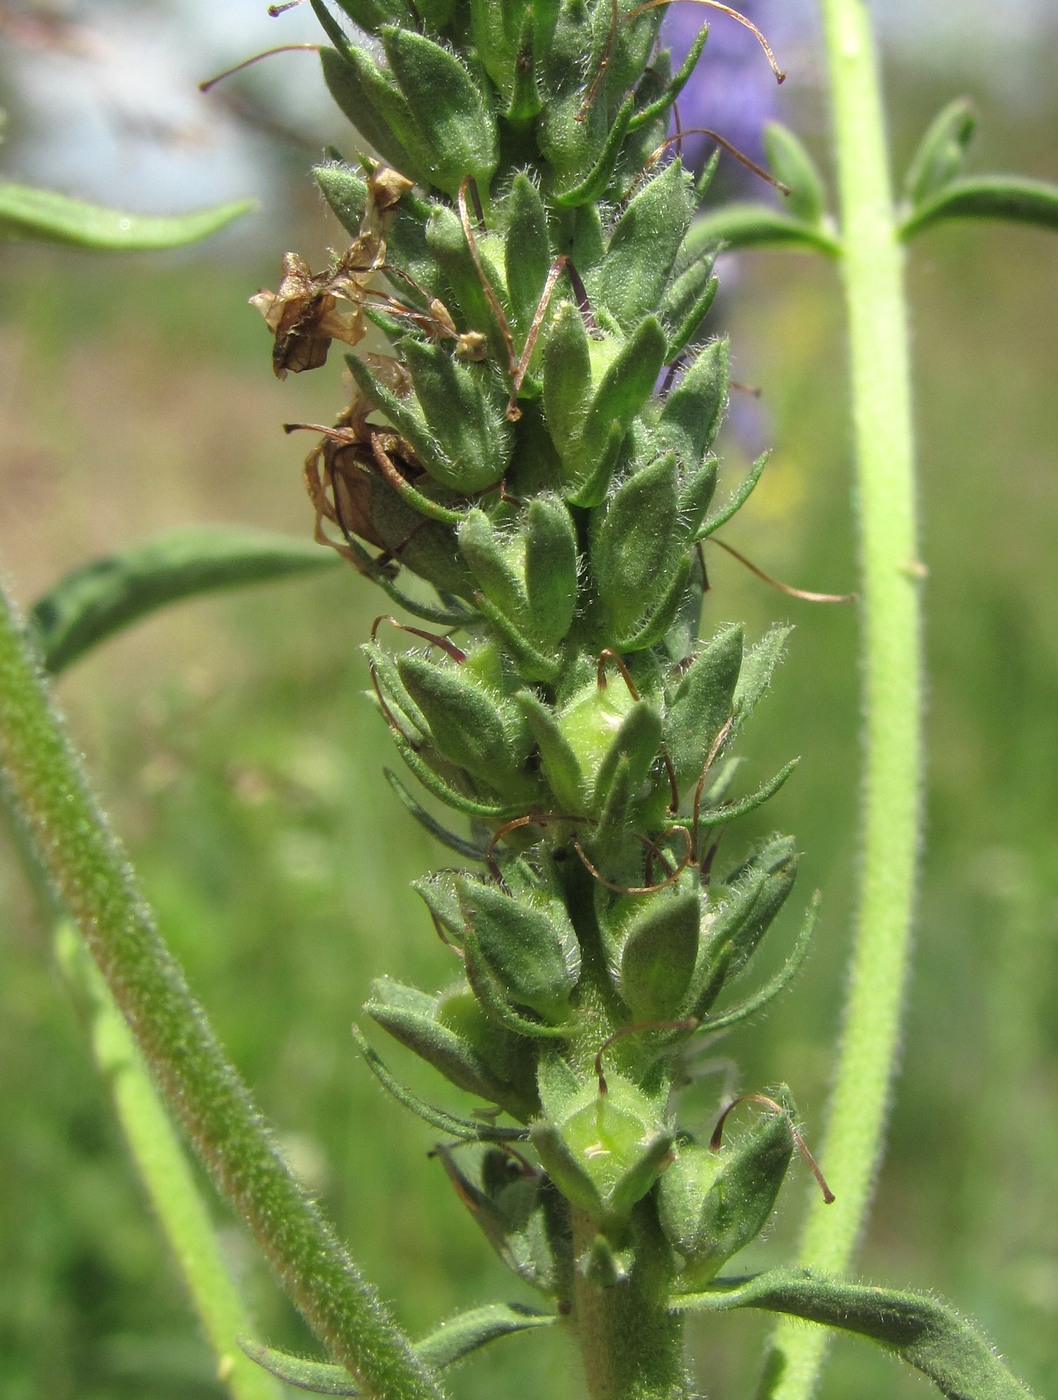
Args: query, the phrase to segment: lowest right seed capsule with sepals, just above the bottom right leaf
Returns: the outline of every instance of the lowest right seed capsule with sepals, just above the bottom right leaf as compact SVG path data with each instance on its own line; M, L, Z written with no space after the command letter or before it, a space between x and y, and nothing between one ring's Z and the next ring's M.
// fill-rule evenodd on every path
M792 1099L764 1113L732 1148L684 1142L658 1189L658 1217L686 1260L682 1284L700 1288L764 1229L794 1155Z

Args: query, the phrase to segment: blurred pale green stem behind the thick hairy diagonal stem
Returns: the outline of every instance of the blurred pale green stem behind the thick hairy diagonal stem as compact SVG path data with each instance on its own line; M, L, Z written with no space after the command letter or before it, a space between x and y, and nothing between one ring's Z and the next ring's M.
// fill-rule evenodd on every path
M56 948L63 970L88 1002L95 1063L113 1098L129 1151L179 1264L202 1329L217 1357L217 1379L227 1386L232 1400L278 1400L280 1390L273 1378L237 1345L237 1338L251 1336L251 1320L221 1257L188 1158L136 1042L99 969L88 958L77 931L66 921L59 927Z

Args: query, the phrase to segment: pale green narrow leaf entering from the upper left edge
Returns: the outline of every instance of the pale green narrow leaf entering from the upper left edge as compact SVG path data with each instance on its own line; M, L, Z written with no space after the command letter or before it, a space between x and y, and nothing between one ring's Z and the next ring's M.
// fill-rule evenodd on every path
M256 204L238 200L195 214L126 214L48 189L0 181L0 241L66 244L106 252L182 248L209 238Z

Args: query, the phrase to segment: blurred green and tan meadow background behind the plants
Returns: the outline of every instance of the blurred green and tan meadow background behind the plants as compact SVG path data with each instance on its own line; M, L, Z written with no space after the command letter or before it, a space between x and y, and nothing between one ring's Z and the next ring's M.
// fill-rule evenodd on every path
M894 49L897 160L942 101L968 90L985 118L977 168L1057 178L1058 84L1024 104L980 55L964 59L953 55L953 78L939 76L936 52ZM291 63L306 64L298 83L312 67ZM291 92L280 95L288 108ZM791 102L784 115L823 151L810 81ZM17 102L13 116L17 155ZM28 130L31 113L21 120ZM112 260L3 249L0 554L24 606L64 570L171 525L311 532L308 444L278 426L330 420L339 368L274 381L245 301L276 284L285 248L316 263L341 235L295 143L269 146L267 160L264 213L209 249ZM1058 242L938 231L915 246L910 281L929 567L928 820L903 1075L861 1273L952 1298L1029 1383L1058 1394ZM721 323L736 378L761 389L760 400L736 396L728 484L759 438L775 444L725 538L800 587L851 588L833 270L746 258L728 272ZM687 1116L710 1123L725 1074L747 1091L785 1081L817 1142L855 875L856 619L784 598L721 552L710 566L707 634L728 619L750 634L777 617L796 623L743 752L754 777L802 756L759 830L798 836L802 897L820 888L824 904L807 970L766 1021L717 1047L729 1063L693 1091ZM362 696L358 645L382 610L341 568L185 605L77 665L59 696L234 1060L367 1274L418 1333L460 1306L532 1299L427 1159L430 1131L382 1096L348 1036L374 976L432 988L452 973L407 888L446 854L386 785L385 727ZM794 924L791 914L789 934ZM10 843L0 939L0 1394L217 1400ZM456 1105L410 1057L379 1049L421 1092ZM789 1257L810 1184L802 1172L770 1239L740 1263ZM259 1337L312 1350L238 1226L221 1210L217 1219ZM691 1326L704 1393L750 1393L764 1327L750 1315ZM572 1400L582 1386L564 1341L533 1336L467 1362L452 1392ZM837 1344L823 1392L926 1393L852 1341Z

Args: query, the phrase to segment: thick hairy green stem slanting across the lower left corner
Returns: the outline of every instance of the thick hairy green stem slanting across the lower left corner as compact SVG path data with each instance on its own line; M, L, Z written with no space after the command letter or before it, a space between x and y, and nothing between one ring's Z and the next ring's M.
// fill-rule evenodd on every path
M273 1147L193 1001L1 594L0 771L171 1110L316 1336L379 1400L438 1400L407 1338Z

